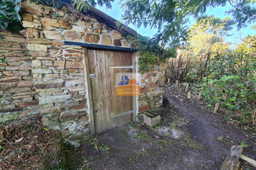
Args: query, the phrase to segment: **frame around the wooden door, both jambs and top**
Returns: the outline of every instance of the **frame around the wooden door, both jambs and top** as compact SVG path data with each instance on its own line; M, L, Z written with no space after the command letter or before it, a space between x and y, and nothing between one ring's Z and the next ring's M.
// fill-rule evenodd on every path
M103 45L98 45L97 47L104 47L106 50L106 46ZM88 48L88 46L83 46L84 48L84 66L85 66L85 85L87 86L86 88L86 93L87 93L87 105L88 105L88 117L89 117L89 124L91 128L91 134L95 134L95 120L94 120L94 114L93 114L93 105L92 105L92 86L91 86L91 80L89 76L89 66L88 66L88 49L101 49L101 48ZM133 53L132 54L132 63L133 63L133 73L138 73L138 59L140 57L140 54L137 52L134 52L136 50L131 50L130 48L125 48L125 47L119 47L122 49L115 50L112 49L112 46L109 46L109 51L123 51L123 52L128 52L128 53ZM103 49L103 48L102 48ZM133 96L133 121L137 122L137 114L138 114L138 97Z

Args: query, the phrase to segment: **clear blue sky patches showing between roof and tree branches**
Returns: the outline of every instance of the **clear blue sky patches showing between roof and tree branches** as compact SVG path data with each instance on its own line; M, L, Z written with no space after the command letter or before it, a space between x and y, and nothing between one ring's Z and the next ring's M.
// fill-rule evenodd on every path
M121 5L119 4L120 0L115 0L112 3L112 9L106 9L105 6L103 7L99 7L97 6L96 8L99 8L99 10L101 10L102 12L105 12L106 14L112 16L112 18L116 19L116 20L120 20L121 19L121 14L122 14L122 9L121 9ZM226 6L222 7L216 7L216 8L208 8L206 10L206 15L214 15L217 18L220 19L224 19L225 17L229 16L230 18L231 15L227 15L225 14L225 11L227 11L228 9L232 8L230 4L227 4ZM195 20L194 19L190 19L190 23L188 23L188 27L191 26L192 24L194 24ZM233 44L236 43L240 43L240 37L242 39L244 39L244 37L251 35L254 36L255 35L255 31L254 29L251 29L252 26L254 26L254 24L248 25L247 28L243 28L240 29L239 31L237 31L237 27L234 26L234 29L232 31L230 31L230 34L232 36L230 37L225 37L225 41L226 42L232 42ZM128 25L130 28L134 29L135 31L137 31L138 33L140 33L140 35L142 36L149 36L152 37L154 36L155 33L157 33L157 29L150 29L150 28L144 28L143 26L140 28L137 28L136 26L133 25Z

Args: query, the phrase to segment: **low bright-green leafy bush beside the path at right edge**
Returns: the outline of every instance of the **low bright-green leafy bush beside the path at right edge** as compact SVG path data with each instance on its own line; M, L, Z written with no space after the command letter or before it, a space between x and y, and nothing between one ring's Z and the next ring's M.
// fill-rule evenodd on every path
M256 94L253 82L244 84L244 77L241 76L221 76L220 80L213 75L202 79L202 94L209 100L209 104L221 102L228 110L240 110L254 103Z

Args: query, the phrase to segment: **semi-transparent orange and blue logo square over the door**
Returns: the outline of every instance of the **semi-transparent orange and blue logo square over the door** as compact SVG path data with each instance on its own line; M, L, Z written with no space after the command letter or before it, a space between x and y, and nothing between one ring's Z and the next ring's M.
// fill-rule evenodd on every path
M140 73L116 73L116 96L139 96L140 80Z

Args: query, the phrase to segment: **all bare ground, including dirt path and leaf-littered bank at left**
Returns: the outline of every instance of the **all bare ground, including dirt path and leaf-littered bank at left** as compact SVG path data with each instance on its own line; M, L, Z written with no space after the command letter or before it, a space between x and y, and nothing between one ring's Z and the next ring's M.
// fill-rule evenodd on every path
M256 155L255 134L175 89L166 89L161 124L144 125L161 139L132 123L74 148L61 145L60 134L43 128L40 117L9 127L0 129L0 169L220 169L231 146L241 142L248 145L244 155Z

